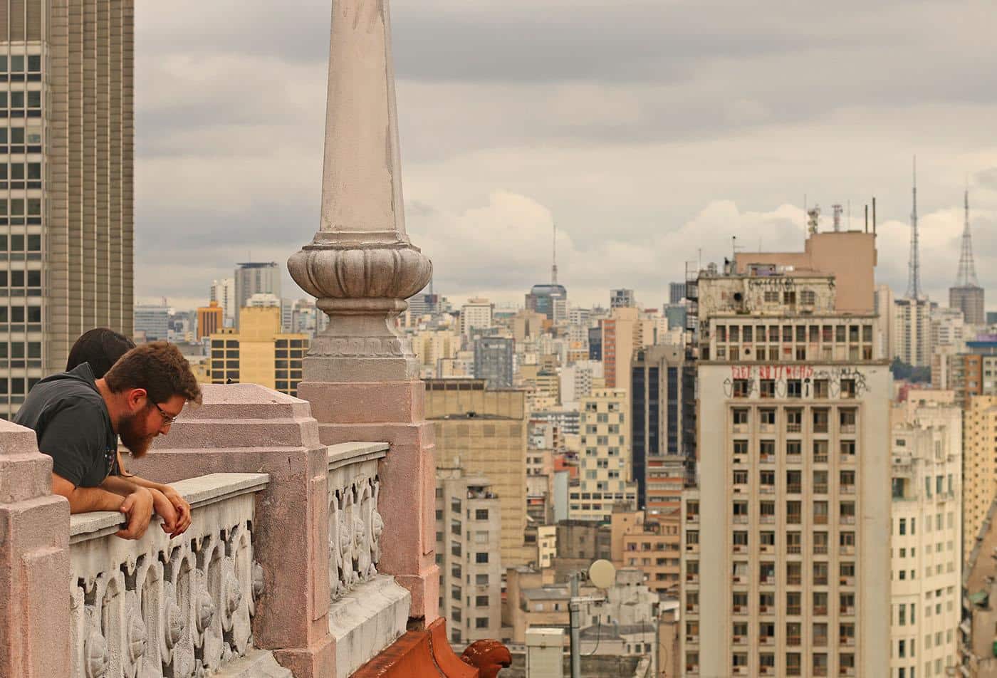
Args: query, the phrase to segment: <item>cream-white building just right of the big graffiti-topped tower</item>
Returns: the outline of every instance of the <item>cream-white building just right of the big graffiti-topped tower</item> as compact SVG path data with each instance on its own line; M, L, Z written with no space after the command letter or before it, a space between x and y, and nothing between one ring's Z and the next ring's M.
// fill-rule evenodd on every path
M962 410L922 403L893 410L892 676L950 675L958 664Z

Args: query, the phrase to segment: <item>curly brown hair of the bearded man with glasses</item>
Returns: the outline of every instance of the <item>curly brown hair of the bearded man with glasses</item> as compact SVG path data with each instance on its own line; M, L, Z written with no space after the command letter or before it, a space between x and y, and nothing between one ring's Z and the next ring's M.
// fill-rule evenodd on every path
M135 347L108 370L104 381L112 393L146 389L154 403L166 403L173 396L200 403L200 387L190 372L190 363L166 341Z

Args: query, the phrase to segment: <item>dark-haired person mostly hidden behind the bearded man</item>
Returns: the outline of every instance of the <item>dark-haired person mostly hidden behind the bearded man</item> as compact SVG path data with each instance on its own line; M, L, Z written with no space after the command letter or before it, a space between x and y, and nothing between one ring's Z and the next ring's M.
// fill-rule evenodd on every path
M133 348L135 348L135 342L124 334L115 332L110 327L95 327L84 332L73 344L73 348L69 351L69 359L66 361L66 371L70 372L83 363L88 363L94 374L94 380L102 379L108 370ZM154 483L129 474L125 469L120 450L117 464L116 475L153 493L154 506L160 507L156 512L163 518L163 530L170 537L186 531L186 528L190 526L190 505L180 497L179 493L168 485ZM160 498L156 496L156 493L162 494L166 503L157 502L156 500ZM172 511L169 510L170 507Z

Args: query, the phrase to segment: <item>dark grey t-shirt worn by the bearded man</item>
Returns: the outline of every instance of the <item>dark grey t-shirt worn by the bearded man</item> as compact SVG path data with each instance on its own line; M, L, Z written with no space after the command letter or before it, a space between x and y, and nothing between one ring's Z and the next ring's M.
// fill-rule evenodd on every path
M52 470L77 488L99 487L118 475L118 434L90 365L38 382L14 418L33 429Z

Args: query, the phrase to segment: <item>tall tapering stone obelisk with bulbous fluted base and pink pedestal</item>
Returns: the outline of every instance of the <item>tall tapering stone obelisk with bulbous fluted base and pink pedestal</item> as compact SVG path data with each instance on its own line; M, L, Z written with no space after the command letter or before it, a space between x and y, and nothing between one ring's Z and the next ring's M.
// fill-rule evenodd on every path
M388 0L333 0L322 213L288 260L330 318L304 361L298 394L324 443L388 442L379 569L412 592L417 623L437 616L433 432L409 342L395 329L430 260L405 228Z

